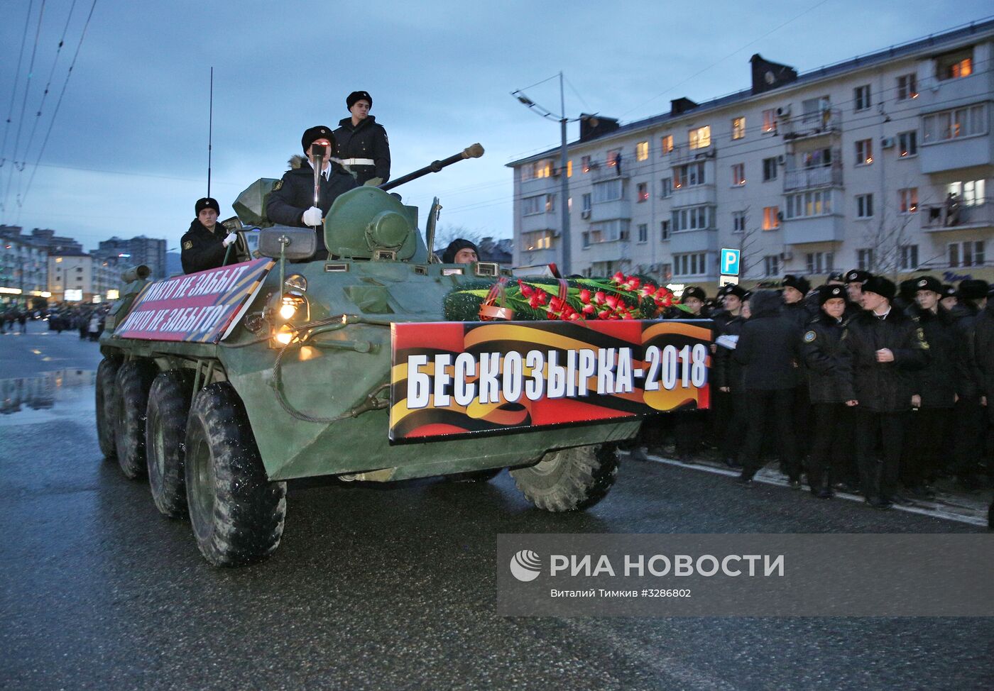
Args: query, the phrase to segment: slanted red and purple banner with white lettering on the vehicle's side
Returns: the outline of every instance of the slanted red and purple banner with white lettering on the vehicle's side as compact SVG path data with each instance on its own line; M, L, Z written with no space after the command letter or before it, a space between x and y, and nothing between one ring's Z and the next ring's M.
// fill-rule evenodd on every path
M216 344L238 323L274 263L255 259L153 281L135 298L114 336Z

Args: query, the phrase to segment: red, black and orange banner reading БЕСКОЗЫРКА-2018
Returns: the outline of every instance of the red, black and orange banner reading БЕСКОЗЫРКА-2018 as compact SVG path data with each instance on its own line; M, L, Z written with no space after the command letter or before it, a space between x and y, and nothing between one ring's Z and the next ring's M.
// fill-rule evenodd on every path
M708 408L711 326L394 324L390 439Z

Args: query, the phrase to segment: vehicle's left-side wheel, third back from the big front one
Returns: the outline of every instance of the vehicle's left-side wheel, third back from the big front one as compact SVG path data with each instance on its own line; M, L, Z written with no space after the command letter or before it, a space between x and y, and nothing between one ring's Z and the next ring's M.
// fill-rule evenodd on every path
M117 370L117 415L114 418L114 445L117 465L129 480L143 478L145 465L145 414L148 390L158 369L151 360L128 360Z

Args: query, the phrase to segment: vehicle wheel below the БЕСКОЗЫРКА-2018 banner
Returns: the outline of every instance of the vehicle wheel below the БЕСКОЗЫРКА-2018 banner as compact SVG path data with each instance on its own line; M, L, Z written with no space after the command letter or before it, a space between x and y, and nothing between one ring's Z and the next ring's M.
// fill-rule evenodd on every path
M551 451L536 465L511 471L511 477L539 508L574 511L604 498L617 473L617 450L596 445Z

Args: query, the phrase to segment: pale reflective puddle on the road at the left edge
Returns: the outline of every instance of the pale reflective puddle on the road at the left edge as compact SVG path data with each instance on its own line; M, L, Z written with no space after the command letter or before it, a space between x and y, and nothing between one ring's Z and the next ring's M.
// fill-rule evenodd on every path
M38 376L0 379L0 426L65 418L92 418L92 369L58 369Z

